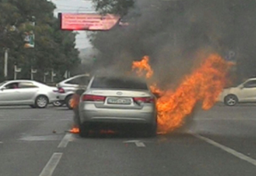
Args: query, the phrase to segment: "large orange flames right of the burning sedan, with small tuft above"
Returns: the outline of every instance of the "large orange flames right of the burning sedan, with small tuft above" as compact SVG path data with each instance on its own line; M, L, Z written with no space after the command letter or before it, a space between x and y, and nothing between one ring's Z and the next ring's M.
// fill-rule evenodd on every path
M217 102L218 95L226 83L226 76L231 63L226 62L217 54L210 55L191 75L184 77L180 86L173 90L160 90L156 84L150 86L157 99L157 123L160 133L168 133L181 127L184 118L191 114L198 101L202 109L208 110ZM147 71L146 77L153 75L149 65L149 57L143 57L141 62L133 62L133 70L141 76Z

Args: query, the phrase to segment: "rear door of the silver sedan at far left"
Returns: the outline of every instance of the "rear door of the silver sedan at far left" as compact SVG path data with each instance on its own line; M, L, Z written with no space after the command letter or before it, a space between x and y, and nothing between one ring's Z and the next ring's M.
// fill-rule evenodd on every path
M33 84L32 82L19 82L19 103L33 103L35 101L35 96L37 92L39 92L39 87Z

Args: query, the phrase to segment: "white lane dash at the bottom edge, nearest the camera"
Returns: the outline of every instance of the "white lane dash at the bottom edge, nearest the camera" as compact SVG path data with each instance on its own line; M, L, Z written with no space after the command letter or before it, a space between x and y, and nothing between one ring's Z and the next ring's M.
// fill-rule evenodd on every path
M53 153L52 157L50 157L50 160L45 165L45 167L43 168L39 176L52 176L53 171L58 165L61 157L62 157L62 153Z

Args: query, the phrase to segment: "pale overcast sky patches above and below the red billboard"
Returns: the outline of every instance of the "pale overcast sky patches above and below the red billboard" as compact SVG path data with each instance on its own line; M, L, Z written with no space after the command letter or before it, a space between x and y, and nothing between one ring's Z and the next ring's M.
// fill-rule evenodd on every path
M55 15L59 12L93 12L92 2L85 0L49 0L56 4ZM76 36L76 48L82 49L90 47L89 40L86 38L86 32L80 31Z

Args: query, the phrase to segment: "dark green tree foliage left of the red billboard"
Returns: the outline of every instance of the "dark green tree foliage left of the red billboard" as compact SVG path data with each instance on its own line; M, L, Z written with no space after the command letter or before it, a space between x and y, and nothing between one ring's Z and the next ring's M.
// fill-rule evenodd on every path
M8 79L14 75L14 64L22 68L18 78L29 79L31 67L38 69L35 78L42 81L45 72L54 70L61 79L66 70L76 67L80 60L75 48L76 33L60 31L53 16L55 5L47 0L0 1L0 54L9 49ZM35 17L35 26L31 21ZM24 32L35 33L35 48L24 48ZM0 59L0 79L3 79L3 59Z

